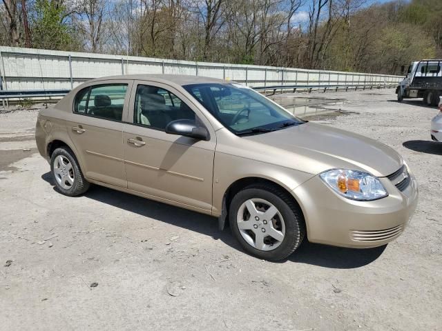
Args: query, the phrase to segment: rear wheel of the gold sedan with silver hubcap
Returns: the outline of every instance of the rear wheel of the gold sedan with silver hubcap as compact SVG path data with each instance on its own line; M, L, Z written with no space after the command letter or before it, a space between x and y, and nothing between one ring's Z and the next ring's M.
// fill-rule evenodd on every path
M57 190L68 197L76 197L89 188L90 184L84 179L75 154L67 146L52 152L50 172Z

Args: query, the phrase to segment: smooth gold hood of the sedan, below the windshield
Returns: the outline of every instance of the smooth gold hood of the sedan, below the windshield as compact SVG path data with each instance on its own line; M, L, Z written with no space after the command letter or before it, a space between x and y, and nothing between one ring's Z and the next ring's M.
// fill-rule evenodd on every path
M269 154L280 157L276 163L287 166L289 161L290 168L312 174L345 168L385 177L403 164L401 155L383 143L311 122L242 139L271 147Z

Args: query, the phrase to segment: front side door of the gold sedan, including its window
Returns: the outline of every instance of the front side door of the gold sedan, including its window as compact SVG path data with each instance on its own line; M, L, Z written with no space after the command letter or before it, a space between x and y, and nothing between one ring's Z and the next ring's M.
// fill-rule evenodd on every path
M216 136L210 122L184 94L162 83L135 81L129 103L132 123L123 129L128 188L211 213ZM199 121L210 140L167 134L175 119Z

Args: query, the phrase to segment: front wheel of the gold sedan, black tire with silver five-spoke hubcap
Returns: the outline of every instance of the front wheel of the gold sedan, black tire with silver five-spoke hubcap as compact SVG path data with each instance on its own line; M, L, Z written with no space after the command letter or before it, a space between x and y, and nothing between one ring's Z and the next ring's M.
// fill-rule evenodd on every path
M274 211L274 209L271 211L271 205L276 208L277 212L267 221L265 213L269 212L271 215ZM256 210L249 212L249 208L253 206L256 210L262 209L258 211L258 214L255 213ZM253 214L257 216L253 217ZM293 197L269 184L250 185L238 192L230 203L229 223L233 235L244 250L269 261L289 257L302 243L306 232L304 217ZM278 235L275 236L275 234ZM262 237L264 237L262 239L264 244L260 245L261 240L258 238ZM275 237L280 240L276 240Z

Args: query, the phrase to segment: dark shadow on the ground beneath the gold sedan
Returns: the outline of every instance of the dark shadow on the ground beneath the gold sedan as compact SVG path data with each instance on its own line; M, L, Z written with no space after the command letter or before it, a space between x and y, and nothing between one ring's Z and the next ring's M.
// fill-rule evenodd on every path
M52 185L54 190L57 191L50 172L41 175L41 179L44 179L44 181ZM91 185L90 190L84 194L84 197L107 203L108 205L122 208L123 210L135 212L141 216L149 217L157 221L205 234L215 240L220 239L232 248L247 254L247 252L242 250L240 244L229 230L218 230L218 219L215 217L173 205L167 205L166 203L144 199L133 194L112 190L99 185ZM309 241L305 239L294 254L291 254L287 259L278 261L277 263L306 263L336 269L359 268L372 263L380 257L386 246L387 245L383 245L377 248L365 249L340 248L318 243L309 243Z

